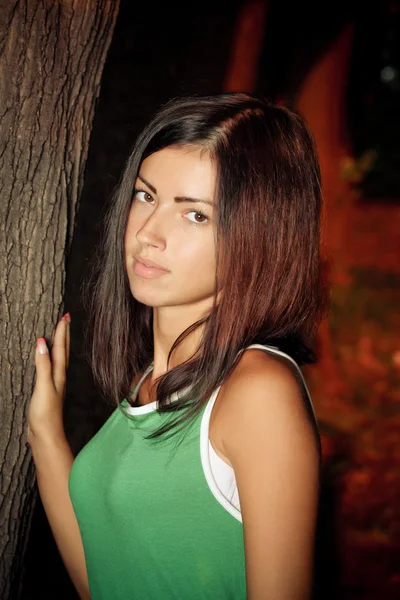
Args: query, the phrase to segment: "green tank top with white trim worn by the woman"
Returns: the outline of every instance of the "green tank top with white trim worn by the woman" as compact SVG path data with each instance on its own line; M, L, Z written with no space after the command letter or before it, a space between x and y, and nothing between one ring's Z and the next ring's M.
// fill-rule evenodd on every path
M133 419L117 408L76 457L69 491L92 600L245 600L240 511L204 459L218 391L179 445L145 439L174 416L153 402L131 408Z

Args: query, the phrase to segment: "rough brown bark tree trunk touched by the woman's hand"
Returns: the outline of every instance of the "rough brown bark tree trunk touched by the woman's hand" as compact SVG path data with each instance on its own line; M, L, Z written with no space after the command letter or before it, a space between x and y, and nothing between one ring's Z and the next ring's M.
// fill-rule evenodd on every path
M0 0L0 597L18 597L36 496L34 347L62 312L100 77L119 0Z

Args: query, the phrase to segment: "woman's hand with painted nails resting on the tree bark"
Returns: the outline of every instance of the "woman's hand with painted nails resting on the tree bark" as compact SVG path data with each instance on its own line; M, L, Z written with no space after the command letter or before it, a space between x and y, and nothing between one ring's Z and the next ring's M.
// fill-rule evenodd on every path
M46 340L36 341L36 383L28 409L28 443L35 436L63 431L63 404L69 362L69 324L65 314L57 324L49 353Z

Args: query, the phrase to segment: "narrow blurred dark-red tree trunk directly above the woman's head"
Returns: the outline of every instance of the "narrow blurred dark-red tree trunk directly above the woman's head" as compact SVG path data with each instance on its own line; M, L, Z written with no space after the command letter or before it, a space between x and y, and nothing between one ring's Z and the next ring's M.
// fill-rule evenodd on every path
M223 89L253 92L265 33L268 0L244 2L237 18Z

